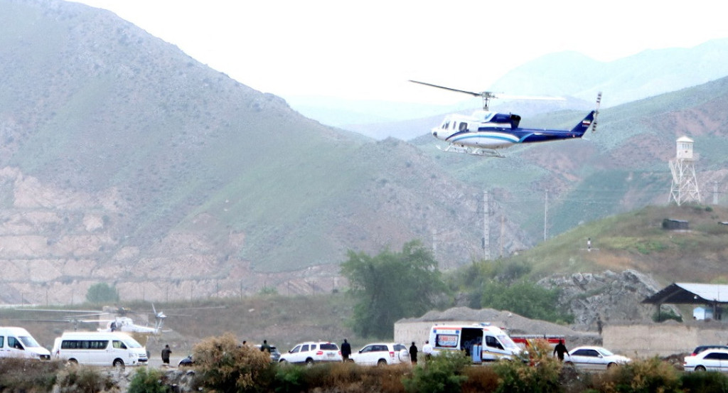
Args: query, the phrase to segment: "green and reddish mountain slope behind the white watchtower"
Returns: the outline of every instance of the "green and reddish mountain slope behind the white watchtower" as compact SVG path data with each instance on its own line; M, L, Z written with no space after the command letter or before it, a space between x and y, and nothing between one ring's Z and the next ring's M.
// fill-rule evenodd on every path
M443 153L429 135L413 141L460 180L493 192L496 210L531 241L646 205L666 205L676 139L695 140L703 202L725 202L728 78L601 110L582 140L516 146L505 159ZM569 128L583 112L524 118L523 127ZM713 194L718 186L719 193Z

